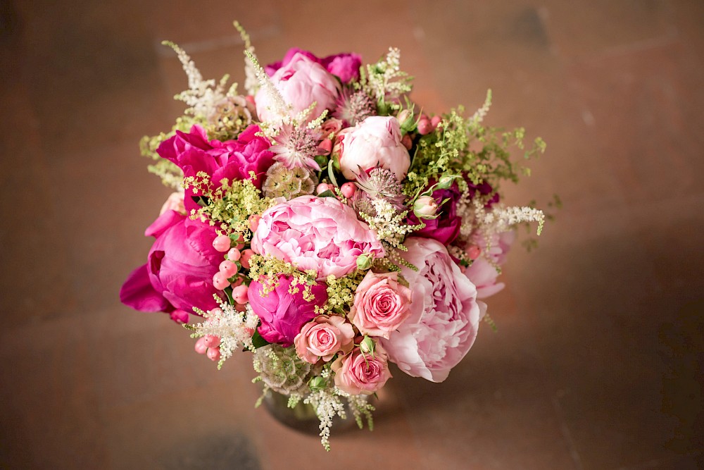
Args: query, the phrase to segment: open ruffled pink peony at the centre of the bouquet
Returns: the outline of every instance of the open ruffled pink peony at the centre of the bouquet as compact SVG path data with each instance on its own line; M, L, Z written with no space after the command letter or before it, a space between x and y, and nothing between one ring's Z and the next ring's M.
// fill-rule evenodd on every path
M355 211L334 197L299 196L264 211L252 249L318 272L318 280L345 276L357 257L384 256L384 247Z

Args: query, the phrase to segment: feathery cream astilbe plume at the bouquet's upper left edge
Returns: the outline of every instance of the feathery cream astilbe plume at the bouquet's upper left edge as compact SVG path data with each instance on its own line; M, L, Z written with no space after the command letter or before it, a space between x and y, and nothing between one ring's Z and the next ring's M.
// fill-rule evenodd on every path
M175 96L175 99L179 99L189 106L185 113L205 118L223 99L236 94L237 84L233 84L229 90L225 91L227 80L230 80L229 75L222 77L217 85L215 85L215 80L203 80L203 75L196 68L191 57L186 54L186 51L170 41L164 41L161 44L175 51L188 77L189 89Z

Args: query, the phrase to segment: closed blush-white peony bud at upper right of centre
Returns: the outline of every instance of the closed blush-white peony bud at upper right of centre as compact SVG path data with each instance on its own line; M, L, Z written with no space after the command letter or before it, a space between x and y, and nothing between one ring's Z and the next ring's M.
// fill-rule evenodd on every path
M394 116L370 116L340 137L340 167L348 180L380 166L399 181L406 178L410 155L401 143L401 126Z

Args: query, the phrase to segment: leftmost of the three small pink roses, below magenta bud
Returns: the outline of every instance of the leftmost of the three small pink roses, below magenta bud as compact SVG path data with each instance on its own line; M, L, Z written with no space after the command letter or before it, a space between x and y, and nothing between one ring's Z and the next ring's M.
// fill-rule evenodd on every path
M296 335L294 345L298 357L315 364L329 361L338 352L348 354L352 350L354 329L341 316L318 315L303 325L301 333Z

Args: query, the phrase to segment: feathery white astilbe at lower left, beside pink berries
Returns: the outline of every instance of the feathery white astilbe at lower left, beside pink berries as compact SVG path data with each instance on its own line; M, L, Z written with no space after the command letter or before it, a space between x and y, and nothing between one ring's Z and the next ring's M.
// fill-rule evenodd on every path
M192 338L201 338L205 335L215 335L220 337L220 361L218 369L226 359L232 357L232 353L246 348L254 351L252 335L259 324L259 317L255 314L249 304L246 304L245 311L237 311L233 305L227 302L220 304L220 309L213 309L203 312L206 321L189 325L189 329L194 333Z

